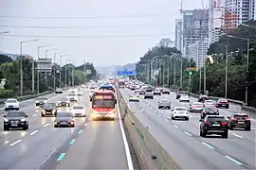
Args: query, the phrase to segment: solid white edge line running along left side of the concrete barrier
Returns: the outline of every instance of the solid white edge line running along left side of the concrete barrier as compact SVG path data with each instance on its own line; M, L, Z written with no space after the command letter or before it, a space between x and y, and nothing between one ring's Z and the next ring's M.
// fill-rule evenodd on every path
M124 98L124 100L127 103L125 98ZM117 107L118 107L118 112L119 112L119 126L120 126L120 130L121 130L122 141L123 141L123 144L124 144L126 159L127 159L127 163L128 163L128 169L129 170L134 170L134 164L133 164L133 161L132 161L129 144L128 144L127 139L126 139L124 129L122 127L121 115L120 115L120 110L119 110L119 101L117 102ZM129 105L128 105L128 109L130 109Z

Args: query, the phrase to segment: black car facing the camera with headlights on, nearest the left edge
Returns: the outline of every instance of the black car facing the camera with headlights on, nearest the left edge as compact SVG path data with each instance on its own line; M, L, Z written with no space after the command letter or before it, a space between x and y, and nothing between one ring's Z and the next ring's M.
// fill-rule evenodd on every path
M9 128L23 128L28 129L27 114L21 110L11 110L4 115L4 130Z

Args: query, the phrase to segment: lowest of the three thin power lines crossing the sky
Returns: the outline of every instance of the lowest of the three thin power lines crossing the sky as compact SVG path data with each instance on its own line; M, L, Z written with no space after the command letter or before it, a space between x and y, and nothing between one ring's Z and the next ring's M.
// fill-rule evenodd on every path
M174 33L172 33L174 34ZM5 37L27 37L27 38L60 38L60 39L111 39L111 38L149 38L149 37L169 37L168 34L142 34L142 35L102 35L102 36L52 36L52 35L22 35L22 34L6 34Z

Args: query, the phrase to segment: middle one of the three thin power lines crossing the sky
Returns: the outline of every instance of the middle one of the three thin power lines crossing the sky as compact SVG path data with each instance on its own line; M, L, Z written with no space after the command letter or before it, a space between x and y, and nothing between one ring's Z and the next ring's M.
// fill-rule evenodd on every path
M122 25L122 26L11 26L0 25L0 27L13 27L13 28L39 28L39 29L105 29L105 28L126 28L126 27L144 27L144 26L168 26L171 24L139 24L139 25Z

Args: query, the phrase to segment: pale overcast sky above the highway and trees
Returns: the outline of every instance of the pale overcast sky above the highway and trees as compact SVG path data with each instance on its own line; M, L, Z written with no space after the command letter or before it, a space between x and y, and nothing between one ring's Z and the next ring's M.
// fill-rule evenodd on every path
M21 41L38 38L24 43L24 53L37 57L37 46L49 44L77 65L84 59L97 66L136 62L160 39L174 40L179 8L180 0L0 0L0 32L10 31L0 37L0 51L20 53ZM183 0L183 8L202 8L202 2Z

